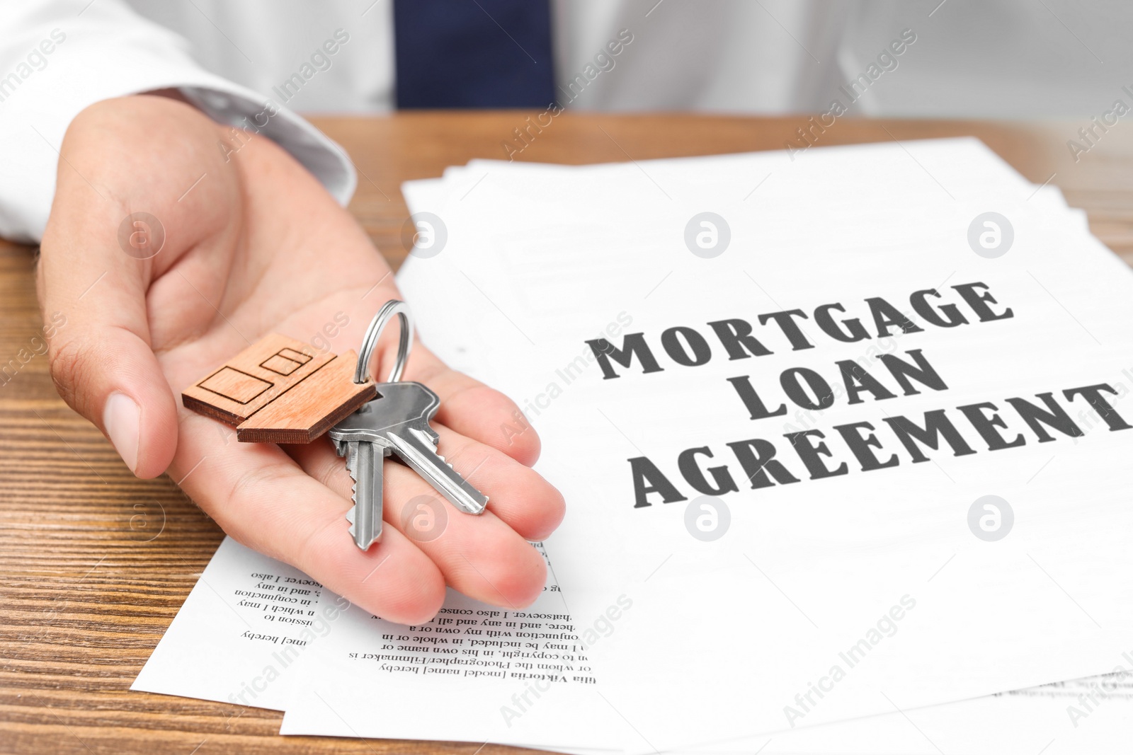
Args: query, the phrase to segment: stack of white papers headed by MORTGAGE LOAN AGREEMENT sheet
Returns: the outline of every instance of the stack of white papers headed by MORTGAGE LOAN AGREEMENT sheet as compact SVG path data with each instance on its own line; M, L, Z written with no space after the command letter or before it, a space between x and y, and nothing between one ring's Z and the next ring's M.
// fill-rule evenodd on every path
M135 688L562 752L1124 746L1133 275L1056 189L949 139L404 192L421 337L566 497L548 589L401 627L225 541Z

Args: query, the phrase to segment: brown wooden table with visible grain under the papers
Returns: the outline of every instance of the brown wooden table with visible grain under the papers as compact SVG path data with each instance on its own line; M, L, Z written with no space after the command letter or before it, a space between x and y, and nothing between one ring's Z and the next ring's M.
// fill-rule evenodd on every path
M393 265L404 258L399 186L522 146L528 113L315 119L353 157L350 209ZM517 158L593 163L780 149L802 118L556 118ZM1082 123L843 119L818 145L974 135L1036 183L1060 187L1133 264L1133 135L1074 161ZM0 242L0 367L41 325L34 249ZM25 352L25 353L28 353ZM18 361L16 362L19 363ZM0 753L449 752L478 745L279 737L281 713L129 692L223 537L170 480L136 480L56 394L46 359L0 377ZM485 747L483 753L502 747Z

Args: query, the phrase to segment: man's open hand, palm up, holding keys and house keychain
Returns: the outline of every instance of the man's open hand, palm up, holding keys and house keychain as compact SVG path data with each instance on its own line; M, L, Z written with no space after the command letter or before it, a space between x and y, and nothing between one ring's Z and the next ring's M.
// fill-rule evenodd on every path
M225 532L365 610L427 620L445 583L496 606L529 604L545 567L526 540L563 515L562 497L527 466L538 439L530 429L505 437L516 405L420 344L404 379L440 395L440 451L491 498L482 516L444 503L445 530L428 541L401 530L403 506L433 494L408 467L386 464L384 534L363 552L347 533L351 482L332 444L241 444L181 406L185 386L266 333L312 341L338 329L333 351L357 350L378 307L400 298L368 238L306 170L264 137L248 135L237 152L220 147L225 137L161 96L102 102L71 123L39 268L45 317L67 317L50 350L60 394L135 474L168 469ZM119 243L136 212L164 228L150 259ZM387 331L380 376L397 342Z

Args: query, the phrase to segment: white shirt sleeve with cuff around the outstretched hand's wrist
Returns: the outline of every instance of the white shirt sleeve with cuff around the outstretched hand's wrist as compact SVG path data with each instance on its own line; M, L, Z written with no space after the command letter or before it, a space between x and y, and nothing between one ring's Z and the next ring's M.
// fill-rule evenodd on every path
M0 2L0 237L39 241L63 134L95 102L180 89L210 118L276 141L346 205L346 151L296 113L197 65L185 38L121 0Z

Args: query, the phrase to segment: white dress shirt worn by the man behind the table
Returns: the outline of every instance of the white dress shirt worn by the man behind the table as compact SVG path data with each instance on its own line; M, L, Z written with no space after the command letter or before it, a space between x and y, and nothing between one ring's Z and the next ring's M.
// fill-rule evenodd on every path
M1118 97L1133 104L1121 88L1133 85L1133 3L1087 5L552 0L555 76L568 110L823 113L840 98L851 115L1088 126ZM349 158L296 111L392 109L392 0L5 0L0 237L42 237L79 111L159 88L233 126L271 105L261 132L349 201ZM850 102L840 93L852 81Z

